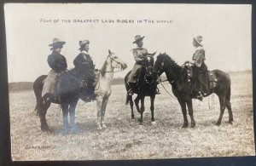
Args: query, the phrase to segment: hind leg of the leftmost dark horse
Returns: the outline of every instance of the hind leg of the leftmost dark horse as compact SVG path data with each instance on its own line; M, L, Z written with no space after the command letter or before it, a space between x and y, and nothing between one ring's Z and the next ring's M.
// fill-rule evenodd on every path
M41 130L42 131L47 131L49 132L49 126L47 124L47 121L46 121L46 113L47 113L47 110L50 106L50 102L47 102L45 104L41 103L39 106L38 106L38 113L39 113L39 117L40 117L40 122L41 122Z

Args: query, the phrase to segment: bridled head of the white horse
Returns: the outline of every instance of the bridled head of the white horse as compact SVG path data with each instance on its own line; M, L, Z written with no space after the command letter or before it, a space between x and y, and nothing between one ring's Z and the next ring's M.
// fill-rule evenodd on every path
M120 60L119 56L108 50L108 60L107 62L114 68L119 68L122 71L127 68L127 65L123 60Z

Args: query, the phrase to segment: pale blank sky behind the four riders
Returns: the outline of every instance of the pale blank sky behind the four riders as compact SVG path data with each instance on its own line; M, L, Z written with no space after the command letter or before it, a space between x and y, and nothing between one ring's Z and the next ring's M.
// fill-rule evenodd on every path
M4 10L9 83L34 81L49 72L47 56L54 37L66 42L61 54L68 68L79 54L79 40L90 40L96 68L111 49L128 65L114 77L125 77L134 65L136 35L145 36L148 52L166 52L179 65L191 60L193 37L201 35L209 70L252 70L251 5L7 3Z

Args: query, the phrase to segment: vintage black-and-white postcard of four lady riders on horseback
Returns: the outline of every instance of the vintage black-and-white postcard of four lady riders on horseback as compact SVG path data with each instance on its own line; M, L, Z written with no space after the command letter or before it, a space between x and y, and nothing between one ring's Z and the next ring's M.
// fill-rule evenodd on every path
M12 159L254 156L251 12L5 3Z

